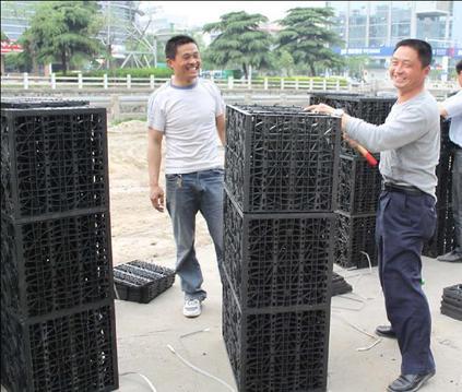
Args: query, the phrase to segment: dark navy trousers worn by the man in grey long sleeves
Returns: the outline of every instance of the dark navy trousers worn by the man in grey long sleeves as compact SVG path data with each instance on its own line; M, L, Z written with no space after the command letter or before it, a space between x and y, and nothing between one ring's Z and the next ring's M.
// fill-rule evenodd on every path
M436 227L435 199L382 191L376 219L379 277L387 316L396 333L402 375L435 369L431 318L422 289L422 248Z

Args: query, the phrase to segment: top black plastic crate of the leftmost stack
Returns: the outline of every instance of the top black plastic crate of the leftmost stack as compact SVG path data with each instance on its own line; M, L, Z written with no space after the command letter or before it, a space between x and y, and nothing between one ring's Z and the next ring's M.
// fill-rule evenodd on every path
M1 109L1 211L31 218L108 206L106 109Z

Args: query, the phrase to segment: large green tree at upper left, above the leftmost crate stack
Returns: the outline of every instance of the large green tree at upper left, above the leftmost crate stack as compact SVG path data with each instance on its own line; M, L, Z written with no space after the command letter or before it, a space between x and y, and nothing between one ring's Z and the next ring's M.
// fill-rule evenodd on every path
M37 8L20 41L38 62L60 61L66 74L70 64L78 66L103 50L92 38L98 29L96 2L48 1Z

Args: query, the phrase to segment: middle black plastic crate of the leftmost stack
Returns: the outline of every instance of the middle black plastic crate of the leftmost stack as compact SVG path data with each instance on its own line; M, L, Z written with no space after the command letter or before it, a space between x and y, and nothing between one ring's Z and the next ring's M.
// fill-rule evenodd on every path
M109 213L1 222L1 307L35 317L112 298Z

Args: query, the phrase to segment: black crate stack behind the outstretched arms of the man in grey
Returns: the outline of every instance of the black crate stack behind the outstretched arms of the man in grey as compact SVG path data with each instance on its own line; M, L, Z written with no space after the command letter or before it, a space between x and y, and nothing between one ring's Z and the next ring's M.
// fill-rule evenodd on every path
M310 104L324 103L374 124L384 123L394 97L316 94ZM379 154L375 154L379 159ZM371 167L345 141L341 143L335 262L344 268L377 265L376 212L381 188L378 166ZM368 259L368 257L369 259Z

